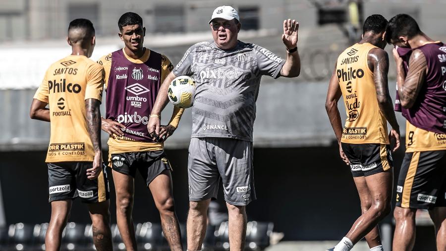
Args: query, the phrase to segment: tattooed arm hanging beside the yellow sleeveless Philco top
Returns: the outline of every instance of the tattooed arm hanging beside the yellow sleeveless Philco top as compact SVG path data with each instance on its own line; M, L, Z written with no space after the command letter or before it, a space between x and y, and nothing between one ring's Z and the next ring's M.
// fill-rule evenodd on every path
M389 73L389 55L380 48L370 50L367 56L369 68L373 71L373 80L375 81L376 97L378 106L384 117L389 121L392 129L390 130L390 138L395 140L393 151L399 148L399 125L396 121L395 111L393 110L393 102L389 93L389 84L387 75Z

